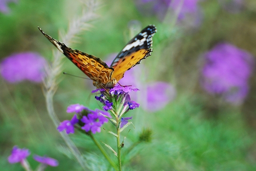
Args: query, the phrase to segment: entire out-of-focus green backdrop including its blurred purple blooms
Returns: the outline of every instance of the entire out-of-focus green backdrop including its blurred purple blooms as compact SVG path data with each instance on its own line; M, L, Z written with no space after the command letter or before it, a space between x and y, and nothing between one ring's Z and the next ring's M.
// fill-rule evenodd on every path
M94 4L94 5L92 5ZM87 15L92 10L94 15ZM83 13L84 11L84 13ZM83 16L84 15L84 16ZM73 21L87 17L71 42L63 35ZM0 0L0 166L12 147L59 161L46 170L82 170L53 124L43 93L45 64L57 49L41 34L111 63L142 28L154 24L153 53L121 80L141 91L133 95L140 108L125 140L124 170L256 169L256 2L254 0L68 1ZM74 28L74 27L73 27ZM62 55L60 70L85 77ZM54 110L71 119L70 104L101 108L89 79L56 78ZM111 124L104 125L111 129ZM143 128L149 143L138 142ZM87 170L107 170L107 161L89 137L70 135L83 153ZM101 129L99 141L115 144ZM114 155L106 148L109 155ZM105 169L104 169L105 168Z

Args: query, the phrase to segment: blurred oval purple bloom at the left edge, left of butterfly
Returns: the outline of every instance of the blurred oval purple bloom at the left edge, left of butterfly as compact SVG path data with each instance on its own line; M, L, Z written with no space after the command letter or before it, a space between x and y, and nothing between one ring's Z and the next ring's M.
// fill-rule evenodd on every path
M22 80L42 82L45 76L45 59L38 53L15 53L5 58L0 64L0 72L10 83Z

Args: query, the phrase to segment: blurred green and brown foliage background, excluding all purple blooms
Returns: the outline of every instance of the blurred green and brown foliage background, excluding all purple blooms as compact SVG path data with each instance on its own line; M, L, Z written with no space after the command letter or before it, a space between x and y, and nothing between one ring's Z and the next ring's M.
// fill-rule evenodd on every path
M71 47L105 60L129 40L129 21L138 20L142 27L154 24L157 27L154 52L142 61L149 70L147 81L163 80L177 89L175 100L161 111L146 112L139 108L130 112L135 129L131 126L124 150L138 140L143 127L153 131L153 140L130 151L124 170L255 170L255 72L250 79L250 93L238 106L207 94L198 82L202 67L199 56L217 42L229 42L256 56L255 1L245 1L244 10L236 14L223 10L218 1L200 2L204 17L196 31L145 17L133 1L100 2L99 18L90 23L91 29L85 30ZM55 47L37 26L58 39L58 30L65 32L69 21L81 14L80 1L20 0L9 6L9 14L0 13L1 59L12 53L33 51L51 62ZM63 69L84 76L68 59L63 60ZM1 170L22 170L19 164L7 162L14 145L59 161L58 167L46 170L81 170L47 115L43 86L30 82L9 84L0 79ZM66 75L58 80L54 105L60 120L71 118L66 113L69 104L100 108L90 93L93 88L90 80ZM111 128L110 124L104 127ZM70 136L91 169L98 164L107 165L88 137L79 133ZM107 144L115 144L106 131L102 130L96 137ZM109 154L112 155L110 151ZM37 162L31 155L28 161L36 168Z

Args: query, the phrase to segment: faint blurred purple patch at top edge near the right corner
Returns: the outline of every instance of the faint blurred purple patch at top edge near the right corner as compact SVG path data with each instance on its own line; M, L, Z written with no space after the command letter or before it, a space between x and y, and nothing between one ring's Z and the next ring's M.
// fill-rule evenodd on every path
M238 13L243 10L244 0L218 0L223 9L230 13Z

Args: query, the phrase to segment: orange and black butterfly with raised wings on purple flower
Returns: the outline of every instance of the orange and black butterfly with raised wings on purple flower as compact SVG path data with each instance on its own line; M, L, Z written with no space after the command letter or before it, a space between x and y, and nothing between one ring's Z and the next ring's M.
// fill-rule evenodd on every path
M73 50L64 43L46 35L41 28L38 27L38 29L60 52L67 56L71 62L93 80L95 87L105 89L113 88L124 77L125 71L131 69L139 64L142 59L151 55L150 52L152 52L152 49L150 47L153 43L152 37L157 31L154 25L149 25L142 29L117 54L109 67L100 58L79 50Z

